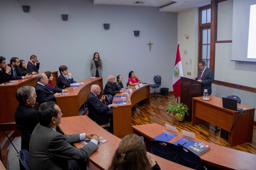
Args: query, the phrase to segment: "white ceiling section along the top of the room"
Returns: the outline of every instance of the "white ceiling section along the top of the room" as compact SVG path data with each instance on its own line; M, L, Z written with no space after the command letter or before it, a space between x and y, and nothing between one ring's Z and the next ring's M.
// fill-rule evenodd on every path
M210 3L211 0L94 0L94 4L154 6L159 7L162 12L180 12Z

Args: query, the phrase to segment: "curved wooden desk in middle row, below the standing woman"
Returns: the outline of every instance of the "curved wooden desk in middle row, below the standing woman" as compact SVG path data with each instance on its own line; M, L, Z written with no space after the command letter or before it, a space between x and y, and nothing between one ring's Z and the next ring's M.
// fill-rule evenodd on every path
M65 88L69 94L56 97L57 105L61 108L63 117L79 115L79 109L86 102L92 85L99 85L103 89L102 78L89 78L78 83L84 83L77 88Z

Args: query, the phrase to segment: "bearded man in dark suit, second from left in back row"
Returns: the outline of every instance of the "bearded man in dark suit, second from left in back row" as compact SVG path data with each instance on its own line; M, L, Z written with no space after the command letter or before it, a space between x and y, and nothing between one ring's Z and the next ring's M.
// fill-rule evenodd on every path
M11 67L12 80L32 78L32 75L30 75L29 73L27 73L25 76L22 76L21 72L17 70L17 68L19 68L20 66L20 60L18 57L12 57L9 66Z

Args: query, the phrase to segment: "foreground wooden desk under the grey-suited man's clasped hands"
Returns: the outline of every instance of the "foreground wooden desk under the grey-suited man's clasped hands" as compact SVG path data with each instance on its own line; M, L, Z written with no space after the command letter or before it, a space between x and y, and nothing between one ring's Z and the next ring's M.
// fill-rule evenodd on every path
M87 160L90 170L107 170L111 164L112 157L121 142L121 139L112 135L108 131L101 128L87 115L63 117L60 130L65 135L80 133L95 133L102 136L108 142L98 145L98 149ZM83 147L79 143L74 143L77 148ZM190 168L168 161L152 154L152 158L158 162L161 170L191 170Z

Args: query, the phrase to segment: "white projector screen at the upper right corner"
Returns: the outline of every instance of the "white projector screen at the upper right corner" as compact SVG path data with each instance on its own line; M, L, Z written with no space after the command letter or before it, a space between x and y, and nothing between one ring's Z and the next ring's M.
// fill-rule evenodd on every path
M256 0L233 1L233 61L256 62L256 16L253 16L256 14L255 4Z

